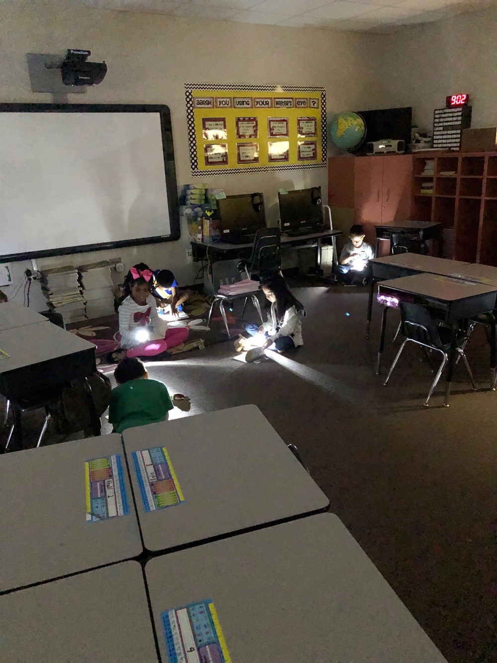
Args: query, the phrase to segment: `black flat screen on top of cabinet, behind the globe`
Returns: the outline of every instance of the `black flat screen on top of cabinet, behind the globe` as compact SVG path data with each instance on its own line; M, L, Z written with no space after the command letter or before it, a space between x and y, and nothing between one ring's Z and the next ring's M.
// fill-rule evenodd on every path
M356 111L364 120L366 135L362 143L353 150L354 154L366 154L366 143L392 139L406 141L406 148L411 142L412 107L384 108L378 111Z

